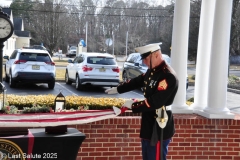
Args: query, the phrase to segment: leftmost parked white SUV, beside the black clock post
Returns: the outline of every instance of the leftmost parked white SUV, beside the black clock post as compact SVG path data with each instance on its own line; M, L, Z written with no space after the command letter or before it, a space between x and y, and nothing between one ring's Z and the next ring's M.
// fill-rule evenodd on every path
M55 86L56 68L48 51L16 49L12 55L4 56L5 81L10 87L19 82L47 83L49 89Z

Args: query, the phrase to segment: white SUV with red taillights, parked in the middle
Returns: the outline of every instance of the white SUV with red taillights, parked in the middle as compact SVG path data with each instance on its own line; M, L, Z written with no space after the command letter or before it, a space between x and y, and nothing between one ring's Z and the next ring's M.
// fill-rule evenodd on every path
M119 85L120 69L115 58L108 53L80 53L74 60L69 59L68 63L65 82L74 82L78 90L84 85Z

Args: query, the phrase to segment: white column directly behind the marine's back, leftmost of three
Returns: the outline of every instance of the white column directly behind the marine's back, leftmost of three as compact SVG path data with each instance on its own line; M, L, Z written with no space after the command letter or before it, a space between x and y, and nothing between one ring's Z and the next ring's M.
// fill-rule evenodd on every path
M176 0L174 7L171 66L176 71L179 87L171 106L173 113L192 113L186 104L190 0Z

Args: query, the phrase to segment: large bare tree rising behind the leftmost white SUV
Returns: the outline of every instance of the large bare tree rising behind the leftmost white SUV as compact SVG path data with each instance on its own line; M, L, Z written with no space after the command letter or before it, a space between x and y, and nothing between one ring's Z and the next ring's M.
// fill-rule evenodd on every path
M53 1L35 3L31 12L28 29L32 33L32 43L43 43L51 53L55 48L64 46L68 16L64 14L66 9L63 1L59 4Z

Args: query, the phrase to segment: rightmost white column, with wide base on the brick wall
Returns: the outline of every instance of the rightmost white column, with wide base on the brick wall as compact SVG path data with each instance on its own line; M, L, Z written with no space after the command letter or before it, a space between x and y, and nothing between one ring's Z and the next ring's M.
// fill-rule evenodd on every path
M210 59L207 107L200 115L207 118L232 119L227 108L228 58L232 0L217 0Z

